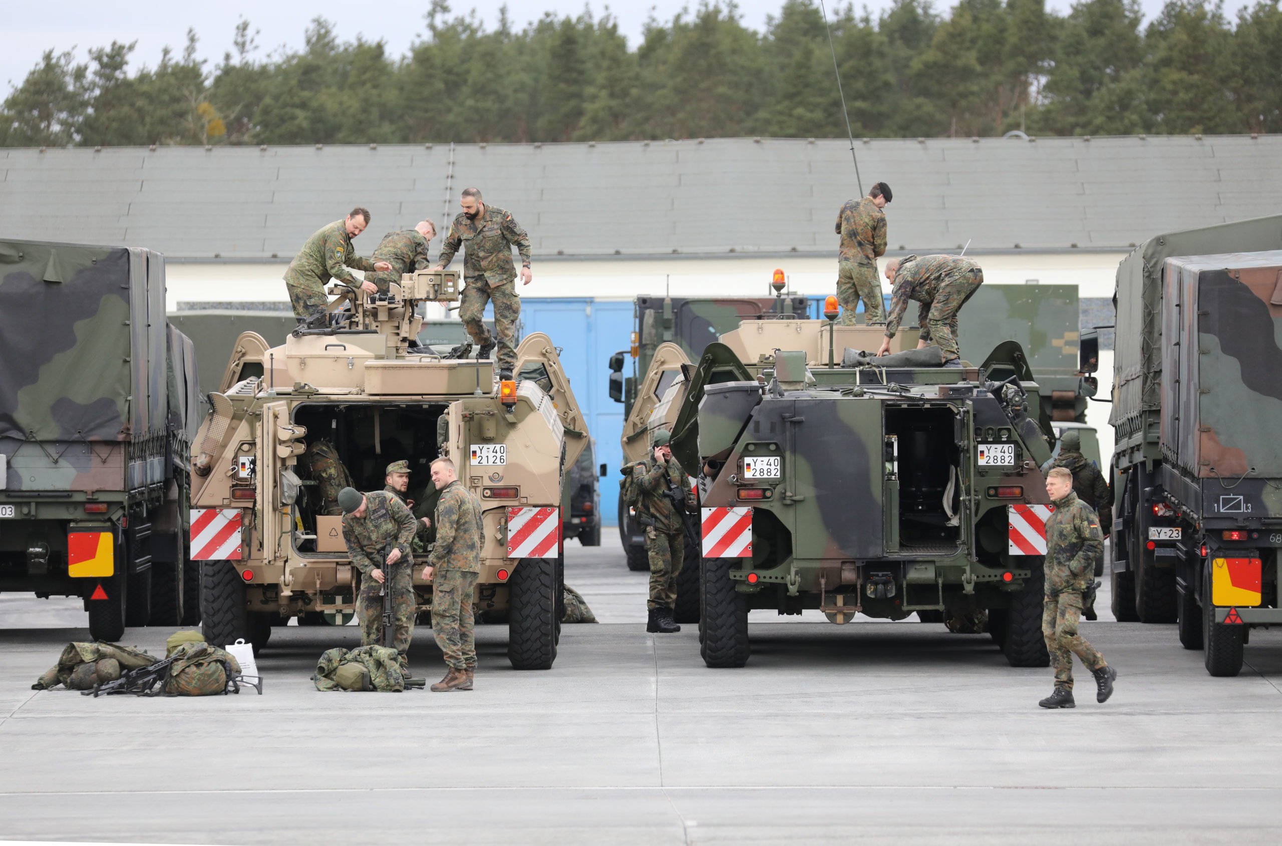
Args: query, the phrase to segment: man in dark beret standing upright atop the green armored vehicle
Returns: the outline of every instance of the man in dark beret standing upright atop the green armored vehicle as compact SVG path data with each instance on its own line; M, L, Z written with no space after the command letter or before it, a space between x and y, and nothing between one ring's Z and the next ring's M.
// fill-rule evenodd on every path
M837 303L841 304L841 326L855 326L855 309L864 301L869 324L885 323L881 282L877 281L877 259L886 253L886 214L890 186L878 182L863 200L849 200L837 214Z

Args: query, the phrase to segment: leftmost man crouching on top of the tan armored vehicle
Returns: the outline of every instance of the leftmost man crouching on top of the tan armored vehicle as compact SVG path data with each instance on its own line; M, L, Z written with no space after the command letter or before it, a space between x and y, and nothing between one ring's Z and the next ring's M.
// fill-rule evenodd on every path
M356 282L347 268L358 270L391 270L386 261L370 261L356 255L351 240L369 226L369 209L356 206L342 220L317 229L285 272L285 287L294 304L294 317L299 323L319 328L326 322L329 297L324 292L331 278L359 287L369 294L378 288L373 282Z

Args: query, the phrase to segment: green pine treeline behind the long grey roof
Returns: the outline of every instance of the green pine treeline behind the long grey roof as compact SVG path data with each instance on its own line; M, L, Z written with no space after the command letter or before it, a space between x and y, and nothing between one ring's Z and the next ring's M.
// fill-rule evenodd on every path
M1282 131L1282 13L1258 1L896 0L829 6L856 137ZM133 45L53 47L0 109L0 145L612 141L845 136L819 5L785 0L764 32L732 3L651 21L629 46L610 17L518 28L433 0L406 55L322 18L263 54L250 22L217 63L197 35L155 67Z

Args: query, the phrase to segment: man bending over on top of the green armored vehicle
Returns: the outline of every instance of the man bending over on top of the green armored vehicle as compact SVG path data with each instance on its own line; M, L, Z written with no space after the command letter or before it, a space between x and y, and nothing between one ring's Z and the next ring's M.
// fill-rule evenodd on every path
M890 352L890 341L899 331L909 300L917 300L917 319L922 338L917 349L931 341L944 351L944 367L962 367L958 350L958 313L970 295L983 285L983 270L970 259L954 255L927 255L897 259L886 263L886 278L894 288L890 295L890 315L886 322L886 340L877 355Z

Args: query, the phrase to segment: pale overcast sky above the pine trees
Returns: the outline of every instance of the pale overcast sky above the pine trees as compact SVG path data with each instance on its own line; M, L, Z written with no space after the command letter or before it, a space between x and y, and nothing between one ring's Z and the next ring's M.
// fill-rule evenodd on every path
M1145 13L1154 15L1161 9L1161 0L1141 0ZM249 3L246 0L219 0L218 3L173 3L167 0L129 0L128 3L86 3L85 0L64 0L45 5L42 3L3 4L5 49L0 51L0 91L22 82L27 72L40 60L41 54L53 47L58 51L76 47L83 59L87 47L109 45L115 41L137 41L133 54L133 67L155 64L165 45L181 51L186 44L187 27L194 27L200 36L200 55L213 62L222 58L231 47L232 32L242 17L259 29L258 44L260 55L281 45L297 47L303 44L303 31L308 22L323 15L337 22L338 35L344 40L358 33L367 40L382 38L392 55L406 51L410 44L426 32L423 13L427 0L379 0L370 4L333 3L331 0L267 0ZM455 0L453 12L460 13L476 9L487 27L499 18L504 0ZM636 46L641 29L649 17L660 21L670 19L686 6L697 6L687 0L633 0L605 4L597 0L526 0L508 3L518 27L538 18L544 12L559 15L577 15L590 6L594 17L600 17L608 8L619 21L620 28L628 36L628 44ZM738 9L745 23L756 29L765 27L767 15L777 14L782 0L738 0ZM836 0L829 4L829 14ZM876 14L890 5L888 0L868 0L867 5ZM936 6L950 6L949 0L938 0ZM1050 8L1067 9L1069 0L1050 0ZM1228 0L1229 10L1242 5L1240 0Z

